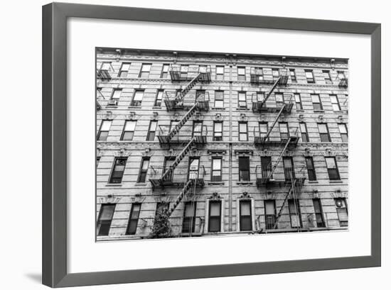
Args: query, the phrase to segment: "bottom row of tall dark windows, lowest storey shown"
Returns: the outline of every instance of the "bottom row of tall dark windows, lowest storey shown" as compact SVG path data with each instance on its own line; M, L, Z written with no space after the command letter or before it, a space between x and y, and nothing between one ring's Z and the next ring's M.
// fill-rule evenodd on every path
M341 226L348 226L348 207L346 199L334 199L336 203L336 211L338 213L338 220ZM318 228L325 228L326 223L323 216L323 210L320 199L312 200L314 205L314 214L316 226ZM157 203L156 215L162 211L168 211L169 203ZM183 210L182 219L182 233L193 233L195 230L196 218L196 201L187 201ZM301 228L303 226L301 221L301 210L299 199L288 200L289 217L291 228ZM109 235L110 225L114 216L115 204L104 203L100 208L100 213L97 221L97 235ZM221 221L223 216L221 200L210 200L208 207L208 232L221 232ZM141 203L132 203L132 209L129 214L129 221L127 225L126 235L135 235L137 224L139 222L139 215L141 211ZM253 230L252 221L252 201L250 199L242 199L239 201L239 230L250 231ZM264 223L265 228L277 228L277 209L274 199L264 200Z

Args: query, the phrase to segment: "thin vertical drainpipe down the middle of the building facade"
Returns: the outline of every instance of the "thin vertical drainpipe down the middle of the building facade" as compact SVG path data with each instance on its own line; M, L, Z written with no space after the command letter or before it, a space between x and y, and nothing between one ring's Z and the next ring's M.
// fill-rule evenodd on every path
M228 143L228 147L228 230L232 231L232 64L230 64L230 142Z

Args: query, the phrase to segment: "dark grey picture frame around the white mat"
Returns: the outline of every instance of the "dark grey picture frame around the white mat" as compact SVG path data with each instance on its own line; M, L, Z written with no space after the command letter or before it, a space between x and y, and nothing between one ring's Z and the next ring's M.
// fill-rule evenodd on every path
M358 33L371 38L371 255L197 267L68 273L67 31L68 17L156 21L245 28ZM280 18L119 6L43 6L43 284L51 287L228 277L380 266L380 23Z

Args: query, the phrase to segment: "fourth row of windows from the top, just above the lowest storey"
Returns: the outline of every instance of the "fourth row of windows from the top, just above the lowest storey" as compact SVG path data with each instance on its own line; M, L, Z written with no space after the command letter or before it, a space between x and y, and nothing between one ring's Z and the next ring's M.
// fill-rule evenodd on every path
M175 157L166 157L163 164L163 172L168 169ZM99 160L98 160L99 161ZM146 176L148 174L150 157L143 157L140 164L139 175L137 177L137 182L146 182ZM309 181L316 180L316 170L313 157L305 157L306 168L308 173ZM330 180L341 180L338 165L336 163L335 157L325 157L326 168L328 172L328 178ZM239 165L239 181L240 182L249 182L250 181L250 157L242 156L238 160ZM291 180L296 178L294 170L294 161L292 157L283 157L282 159L284 167L284 179ZM122 177L124 176L125 167L127 164L127 157L116 157L114 160L114 166L112 167L112 172L109 177L109 183L118 184L122 182ZM188 179L196 179L201 177L200 174L200 158L191 157L188 164ZM261 167L259 176L264 178L273 178L272 177L272 157L265 156L261 157ZM203 177L203 176L202 176ZM173 172L171 172L167 179L173 178ZM210 167L210 181L212 182L221 182L222 181L222 158L213 157Z

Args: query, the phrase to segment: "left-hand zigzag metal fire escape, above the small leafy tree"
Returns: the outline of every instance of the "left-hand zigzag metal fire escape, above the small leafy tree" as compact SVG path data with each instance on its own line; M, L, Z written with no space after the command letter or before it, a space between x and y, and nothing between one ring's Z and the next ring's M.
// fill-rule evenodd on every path
M206 143L207 130L202 124L199 127L193 126L191 132L189 130L181 130L186 126L195 114L200 114L209 111L208 94L204 91L191 92L191 89L198 83L210 82L210 67L205 69L198 67L196 71L186 73L181 71L181 67L171 65L170 77L173 82L188 82L186 87L169 94L166 92L164 103L167 111L185 110L186 113L179 121L176 121L174 126L159 126L158 139L161 146L182 145L183 149L176 155L175 159L171 159L170 164L164 164L163 167L151 167L152 173L149 182L152 188L164 188L164 186L181 186L182 190L168 209L168 216L176 209L178 204L186 194L195 194L197 187L203 187L205 182L203 177L205 169L199 164L199 159L191 160L188 169L180 169L178 165L183 158L197 147Z

